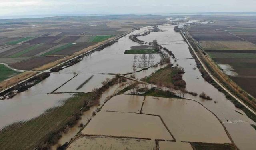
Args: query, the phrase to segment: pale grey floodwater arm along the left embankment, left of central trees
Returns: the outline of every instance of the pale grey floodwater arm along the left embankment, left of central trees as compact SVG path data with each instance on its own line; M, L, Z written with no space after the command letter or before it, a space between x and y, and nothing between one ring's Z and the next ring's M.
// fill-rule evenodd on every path
M137 34L148 27L141 28L130 34ZM35 118L44 113L47 109L60 106L64 100L68 99L72 94L48 94L58 88L55 92L91 92L93 88L99 88L101 82L106 77L112 78L110 75L89 74L89 73L121 73L132 72L132 65L145 68L160 61L159 54L146 54L144 63L140 57L142 55L124 54L125 50L132 46L140 44L133 42L126 35L118 40L112 46L102 51L96 51L86 57L84 60L74 66L65 68L60 72L52 73L50 77L40 82L36 86L17 94L9 100L0 100L0 129L14 122L20 122ZM136 58L135 58L136 57ZM121 63L120 63L121 62ZM160 68L149 68L135 73L136 78L142 78L150 75L154 70ZM70 80L72 77L75 78ZM76 90L85 80L94 75L82 88ZM67 82L70 80L69 82ZM66 84L64 84L67 82ZM64 84L63 86L61 86ZM61 87L60 87L61 86ZM60 87L60 88L59 88Z

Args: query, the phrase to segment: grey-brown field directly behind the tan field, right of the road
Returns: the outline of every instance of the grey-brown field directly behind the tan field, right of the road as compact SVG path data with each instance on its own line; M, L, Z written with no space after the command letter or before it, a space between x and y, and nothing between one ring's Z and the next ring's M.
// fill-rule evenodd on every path
M204 32L204 33L200 33L200 32L190 32L190 34L192 35L192 37L196 40L196 41L208 41L208 40L217 40L217 41L241 41L242 39L229 34L227 32Z

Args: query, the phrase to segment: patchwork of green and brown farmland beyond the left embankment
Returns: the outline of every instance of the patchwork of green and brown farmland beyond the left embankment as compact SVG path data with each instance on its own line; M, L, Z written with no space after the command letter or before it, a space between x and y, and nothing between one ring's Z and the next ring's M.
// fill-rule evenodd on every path
M10 23L5 24L8 21ZM74 57L78 54L75 52L89 50L137 26L164 22L156 16L141 19L129 15L113 16L112 19L107 16L58 16L1 20L4 25L0 28L0 62L16 69L35 70L58 59Z

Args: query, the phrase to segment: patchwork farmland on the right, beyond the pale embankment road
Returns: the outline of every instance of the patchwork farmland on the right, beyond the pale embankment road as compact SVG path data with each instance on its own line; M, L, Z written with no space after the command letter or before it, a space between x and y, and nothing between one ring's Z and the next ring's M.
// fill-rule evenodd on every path
M239 21L232 17L214 19L210 24L192 26L190 36L238 86L256 97L255 20L244 21L250 17Z

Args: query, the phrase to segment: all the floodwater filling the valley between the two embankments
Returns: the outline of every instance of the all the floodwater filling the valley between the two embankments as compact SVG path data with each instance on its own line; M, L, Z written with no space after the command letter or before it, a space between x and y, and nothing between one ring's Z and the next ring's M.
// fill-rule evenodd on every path
M196 100L213 112L224 123L234 143L240 150L254 149L256 147L256 143L254 142L256 132L250 124L255 123L244 112L236 108L232 102L227 100L224 94L204 81L197 68L193 69L196 66L196 62L192 59L188 45L183 41L180 33L173 31L174 26L161 25L159 27L163 32L152 32L147 36L140 36L138 38L146 42L152 42L156 39L163 47L171 50L177 58L177 62L174 62L174 59L171 62L179 64L185 70L183 79L186 81L186 90L197 92L198 94L205 92L213 100L204 100L199 98L199 96L195 97L188 94L185 97ZM152 56L145 54L144 57L147 59L144 61L140 59L142 54L124 54L124 51L129 50L132 46L140 46L140 44L130 40L128 36L140 33L146 29L148 27L136 30L120 38L112 46L86 56L84 60L74 66L65 68L57 73L52 73L50 77L46 78L40 84L17 94L12 99L1 100L0 120L3 121L0 123L0 128L13 122L29 120L39 116L47 109L63 104L64 100L72 96L72 94L67 93L47 94L56 88L58 88L56 92L90 92L93 88L100 87L101 82L106 77L112 78L112 75L106 75L104 73L125 74L132 72L132 65L136 65L138 70L140 70L157 64L161 58L160 54L151 54ZM145 63L145 61L148 63ZM135 78L149 76L160 67L148 68L148 70L137 72L135 73ZM70 80L71 78L73 79ZM70 81L67 82L68 80ZM65 82L67 83L64 84ZM125 86L124 84L116 84L108 88L100 98L100 106L102 106L109 96L116 94ZM102 110L96 113L94 117L92 117L92 112L96 111L100 106L90 108L89 111L84 112L81 116L82 119L80 122L83 124L86 124L92 118L89 124L82 130L82 134L101 136L83 136L76 139L68 149L81 148L93 150L99 148L100 150L113 148L113 150L125 150L127 148L152 149L155 146L152 140L105 136L173 140L160 117L154 115L160 115L162 117L170 132L172 132L179 142L168 143L168 141L160 141L161 150L164 148L168 149L169 147L177 147L180 150L182 148L188 148L187 143L180 144L180 141L230 143L219 120L214 114L197 102L147 96L142 107L143 101L143 96L114 96L106 102ZM145 114L139 114L141 108L142 113ZM236 111L241 112L243 115ZM67 133L62 135L59 144L62 145L68 142L79 130L80 128L77 126L71 128ZM102 146L94 147L99 145Z

